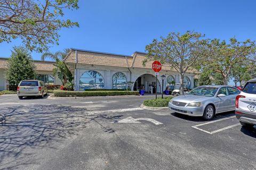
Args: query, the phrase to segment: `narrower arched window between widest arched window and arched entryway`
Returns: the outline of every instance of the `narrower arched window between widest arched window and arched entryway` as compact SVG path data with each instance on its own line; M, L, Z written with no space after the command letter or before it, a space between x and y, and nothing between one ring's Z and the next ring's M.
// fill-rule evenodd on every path
M126 76L124 73L117 72L112 77L113 89L126 89Z

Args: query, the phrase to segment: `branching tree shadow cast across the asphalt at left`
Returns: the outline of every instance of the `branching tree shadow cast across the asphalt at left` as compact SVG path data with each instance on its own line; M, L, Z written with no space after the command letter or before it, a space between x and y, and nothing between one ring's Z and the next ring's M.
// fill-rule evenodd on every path
M39 164L33 153L38 149L57 149L56 143L77 135L90 122L99 124L104 132L113 133L115 130L102 125L102 121L122 117L87 115L85 108L60 105L9 107L1 113L5 114L6 122L0 124L0 169ZM26 161L22 162L23 159Z

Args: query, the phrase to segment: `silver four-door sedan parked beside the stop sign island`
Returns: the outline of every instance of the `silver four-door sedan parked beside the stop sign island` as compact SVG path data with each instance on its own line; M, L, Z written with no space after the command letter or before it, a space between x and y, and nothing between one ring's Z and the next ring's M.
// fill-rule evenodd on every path
M211 120L215 114L235 111L237 88L230 86L199 86L186 95L174 97L169 102L171 111L189 116L203 116Z

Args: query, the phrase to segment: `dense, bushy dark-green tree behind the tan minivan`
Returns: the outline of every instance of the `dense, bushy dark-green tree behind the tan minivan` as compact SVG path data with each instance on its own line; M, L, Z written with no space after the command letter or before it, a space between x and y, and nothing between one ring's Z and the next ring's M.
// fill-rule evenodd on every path
M35 65L28 50L23 46L13 47L8 59L5 79L10 85L18 85L21 80L36 78Z

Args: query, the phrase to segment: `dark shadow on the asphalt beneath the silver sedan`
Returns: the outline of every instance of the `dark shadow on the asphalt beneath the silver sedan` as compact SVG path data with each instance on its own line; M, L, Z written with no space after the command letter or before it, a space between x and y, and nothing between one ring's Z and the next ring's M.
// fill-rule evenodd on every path
M199 117L198 116L189 116L189 115L183 115L183 114L179 114L179 113L171 113L171 115L173 115L175 117L182 118L183 120L187 120L187 121L193 121L193 122L205 122L205 121L207 121L201 116L199 116ZM210 120L210 121L219 120L221 118L230 117L230 116L234 116L234 115L235 115L234 112L220 113L220 114L215 115L213 117L213 119Z

